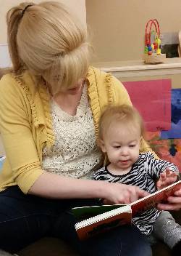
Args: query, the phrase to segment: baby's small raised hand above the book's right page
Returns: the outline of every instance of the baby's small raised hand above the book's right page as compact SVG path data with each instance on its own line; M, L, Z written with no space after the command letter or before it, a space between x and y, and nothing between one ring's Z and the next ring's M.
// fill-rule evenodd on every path
M169 168L167 168L164 172L161 173L159 180L156 183L156 187L158 190L161 188L167 187L167 185L171 185L177 180L177 172L172 172Z

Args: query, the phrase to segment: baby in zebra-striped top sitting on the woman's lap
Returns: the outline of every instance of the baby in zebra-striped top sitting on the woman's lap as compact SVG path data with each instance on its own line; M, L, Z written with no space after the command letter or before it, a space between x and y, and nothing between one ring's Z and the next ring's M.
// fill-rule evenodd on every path
M101 115L98 136L99 145L106 153L109 164L93 175L94 180L137 185L153 193L157 190L156 179L159 179L157 187L163 188L174 183L179 177L179 171L174 164L155 159L151 152L139 153L144 125L135 108L128 105L107 106ZM161 212L156 208L149 209L133 217L132 223L148 236L153 231L153 223L160 214ZM159 232L159 239L164 240L171 249L176 244L180 247L181 226L175 223L169 212L164 211L164 215L159 219L161 223L159 223L159 231L156 231Z

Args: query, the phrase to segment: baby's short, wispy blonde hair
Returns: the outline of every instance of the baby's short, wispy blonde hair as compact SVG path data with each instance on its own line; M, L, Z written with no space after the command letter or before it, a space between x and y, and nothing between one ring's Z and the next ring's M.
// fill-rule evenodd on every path
M106 130L115 121L126 124L130 129L140 128L140 136L144 137L143 119L134 107L130 105L106 105L99 120L98 140L104 140Z

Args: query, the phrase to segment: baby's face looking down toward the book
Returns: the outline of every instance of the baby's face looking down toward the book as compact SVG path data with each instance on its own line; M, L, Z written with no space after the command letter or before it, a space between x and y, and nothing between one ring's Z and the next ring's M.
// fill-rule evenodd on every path
M101 149L107 153L111 167L126 171L139 156L140 128L113 122L101 141Z

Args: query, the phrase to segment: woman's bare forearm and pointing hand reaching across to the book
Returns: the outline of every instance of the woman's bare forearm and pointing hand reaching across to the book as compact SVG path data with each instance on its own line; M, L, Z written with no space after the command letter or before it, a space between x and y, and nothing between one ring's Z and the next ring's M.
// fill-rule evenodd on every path
M129 204L146 191L132 185L108 183L99 180L77 180L43 171L28 193L51 199L106 199L111 204Z

